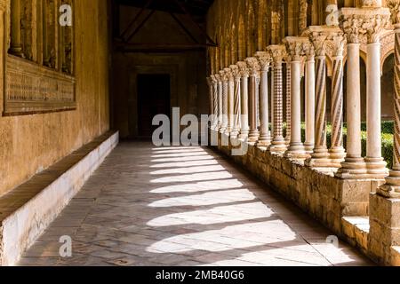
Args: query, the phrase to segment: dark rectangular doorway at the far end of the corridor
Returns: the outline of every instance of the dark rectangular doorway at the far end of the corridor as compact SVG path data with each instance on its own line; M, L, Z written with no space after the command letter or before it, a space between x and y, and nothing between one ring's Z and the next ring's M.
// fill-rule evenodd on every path
M150 138L158 126L153 126L157 114L171 115L170 75L138 75L138 130L142 138Z

